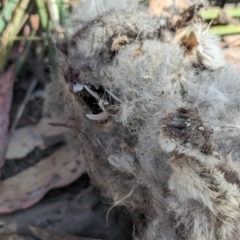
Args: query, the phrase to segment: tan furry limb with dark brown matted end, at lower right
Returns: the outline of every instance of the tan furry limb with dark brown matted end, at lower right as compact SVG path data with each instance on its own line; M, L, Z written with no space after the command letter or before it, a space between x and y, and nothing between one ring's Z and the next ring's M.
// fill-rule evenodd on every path
M231 159L216 155L211 130L196 109L178 109L160 125L160 142L176 143L167 201L178 228L185 229L181 234L185 239L238 239L240 189Z

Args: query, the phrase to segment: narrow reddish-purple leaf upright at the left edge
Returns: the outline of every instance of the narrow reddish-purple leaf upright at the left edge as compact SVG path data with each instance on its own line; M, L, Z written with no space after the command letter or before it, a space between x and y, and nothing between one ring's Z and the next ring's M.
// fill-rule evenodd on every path
M4 164L7 131L9 125L9 111L12 102L15 66L0 75L0 168Z

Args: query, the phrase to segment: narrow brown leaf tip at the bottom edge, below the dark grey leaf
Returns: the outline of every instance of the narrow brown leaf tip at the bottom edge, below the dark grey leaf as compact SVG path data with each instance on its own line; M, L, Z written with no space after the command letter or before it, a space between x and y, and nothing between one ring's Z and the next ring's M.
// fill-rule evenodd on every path
M97 240L93 238L82 238L73 235L57 233L43 228L29 227L33 235L41 240Z

